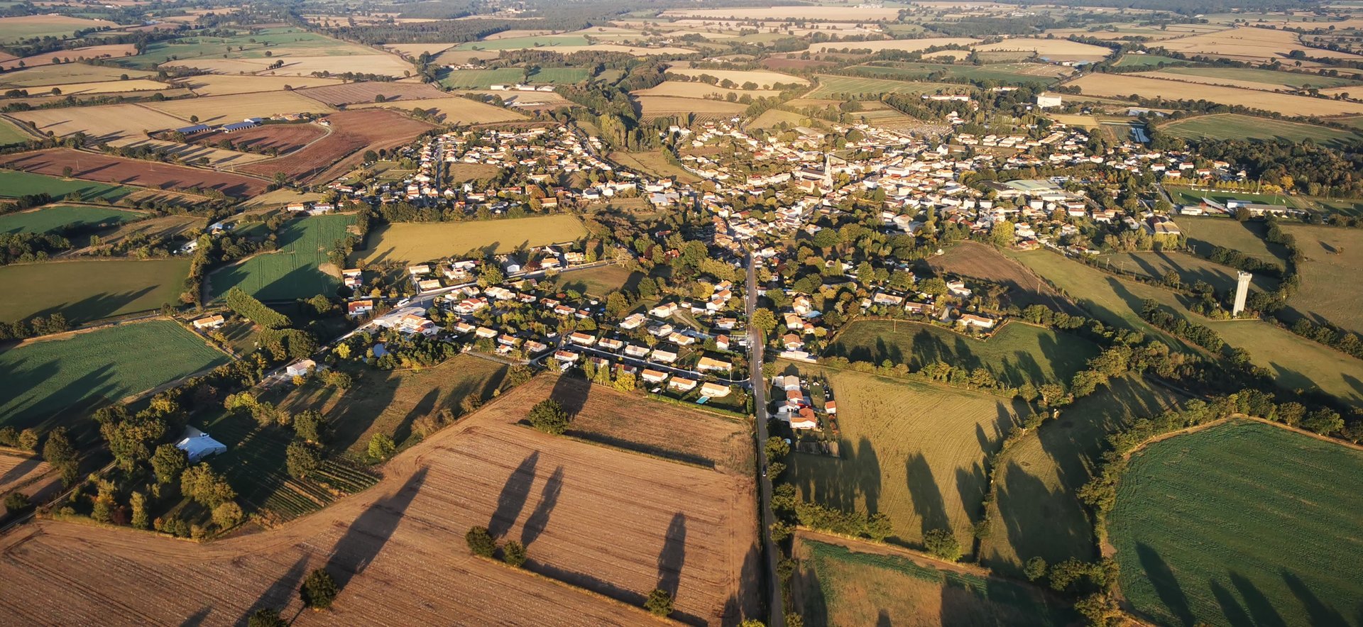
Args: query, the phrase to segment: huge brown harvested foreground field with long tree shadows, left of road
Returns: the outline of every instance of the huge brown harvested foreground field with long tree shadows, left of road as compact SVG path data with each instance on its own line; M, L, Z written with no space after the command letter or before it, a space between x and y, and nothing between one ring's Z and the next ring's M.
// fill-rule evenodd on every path
M394 458L373 488L269 532L194 544L40 521L0 538L0 623L232 624L274 607L298 626L646 624L624 604L654 587L676 592L673 617L688 623L752 616L752 480L514 424L544 397L542 384L512 390ZM669 406L649 409L631 420L673 427ZM647 498L620 507L622 495ZM523 542L530 572L470 556L476 525ZM298 583L318 567L341 593L328 612L300 612ZM108 577L128 571L150 577ZM64 602L25 601L72 585Z

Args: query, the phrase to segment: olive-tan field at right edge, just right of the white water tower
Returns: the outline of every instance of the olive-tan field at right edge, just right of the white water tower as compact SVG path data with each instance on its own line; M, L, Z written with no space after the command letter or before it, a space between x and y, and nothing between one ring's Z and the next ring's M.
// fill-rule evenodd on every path
M1363 233L1353 229L1326 226L1284 225L1296 237L1296 245L1306 254L1302 262L1302 288L1288 300L1288 305L1302 315L1319 322L1321 318L1363 333L1363 309L1358 305L1359 286L1363 285Z

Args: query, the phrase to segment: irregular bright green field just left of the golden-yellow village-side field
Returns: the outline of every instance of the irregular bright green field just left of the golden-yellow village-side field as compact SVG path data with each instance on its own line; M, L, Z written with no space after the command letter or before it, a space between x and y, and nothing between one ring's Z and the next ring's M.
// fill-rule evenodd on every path
M279 249L264 252L209 275L213 297L240 286L260 300L334 296L341 279L320 270L337 240L346 236L353 215L315 215L279 229ZM341 269L337 269L339 273Z

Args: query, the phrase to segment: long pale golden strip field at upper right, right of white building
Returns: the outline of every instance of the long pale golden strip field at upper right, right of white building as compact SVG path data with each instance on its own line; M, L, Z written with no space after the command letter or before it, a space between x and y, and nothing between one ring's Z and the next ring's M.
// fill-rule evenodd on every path
M1145 98L1164 100L1206 100L1224 105L1243 105L1292 116L1338 116L1363 113L1363 104L1344 102L1304 95L1278 94L1272 91L1250 91L1217 85L1197 85L1175 80L1131 76L1127 74L1088 74L1069 85L1082 89L1086 95L1126 97L1139 94Z

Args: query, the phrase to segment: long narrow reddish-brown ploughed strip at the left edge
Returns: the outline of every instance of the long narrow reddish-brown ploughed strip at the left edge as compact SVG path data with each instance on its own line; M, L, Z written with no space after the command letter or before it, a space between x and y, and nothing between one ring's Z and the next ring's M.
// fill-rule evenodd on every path
M67 168L72 168L71 176L78 179L120 185L139 185L153 189L217 189L228 196L252 196L263 192L267 185L264 180L229 172L127 159L71 149L48 149L34 153L11 154L0 157L0 165L49 176L63 176Z

